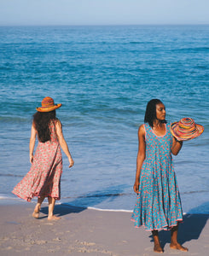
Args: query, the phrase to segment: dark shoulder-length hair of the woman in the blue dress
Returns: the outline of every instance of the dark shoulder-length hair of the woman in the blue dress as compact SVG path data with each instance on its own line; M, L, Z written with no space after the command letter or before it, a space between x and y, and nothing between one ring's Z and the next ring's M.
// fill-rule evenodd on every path
M144 116L144 123L148 123L149 126L153 128L154 119L156 119L156 105L162 103L159 99L153 99L148 102L145 116ZM167 123L166 120L162 121L162 123Z

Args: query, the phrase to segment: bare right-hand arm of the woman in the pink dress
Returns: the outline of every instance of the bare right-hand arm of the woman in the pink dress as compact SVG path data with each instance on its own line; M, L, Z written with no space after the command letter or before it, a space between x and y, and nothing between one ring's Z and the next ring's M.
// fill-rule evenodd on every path
M73 158L70 154L70 151L69 151L69 148L67 146L67 142L63 136L63 133L62 133L62 127L61 127L61 121L60 120L57 120L56 122L56 125L55 125L55 129L56 129L56 134L57 134L57 137L58 137L58 140L59 140L59 143L61 145L61 149L64 151L64 153L67 155L67 158L69 160L69 168L72 167L74 165L74 161L73 161Z

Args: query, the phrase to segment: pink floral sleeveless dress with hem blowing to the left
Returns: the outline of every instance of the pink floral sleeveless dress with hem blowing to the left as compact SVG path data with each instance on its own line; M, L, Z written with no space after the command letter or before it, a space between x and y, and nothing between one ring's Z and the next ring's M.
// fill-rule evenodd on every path
M61 199L62 157L55 122L50 124L50 141L38 141L30 171L12 191L26 201L31 201L33 196Z

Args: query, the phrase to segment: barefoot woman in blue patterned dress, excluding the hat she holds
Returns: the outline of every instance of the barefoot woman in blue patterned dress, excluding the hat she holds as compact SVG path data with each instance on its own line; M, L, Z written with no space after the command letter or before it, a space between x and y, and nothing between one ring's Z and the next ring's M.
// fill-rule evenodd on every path
M178 154L183 142L171 135L170 125L165 121L165 106L158 99L148 102L144 123L138 130L134 183L137 199L132 220L136 227L143 225L145 230L152 231L154 252L163 253L159 230L171 230L172 249L188 251L177 242L183 212L171 157Z

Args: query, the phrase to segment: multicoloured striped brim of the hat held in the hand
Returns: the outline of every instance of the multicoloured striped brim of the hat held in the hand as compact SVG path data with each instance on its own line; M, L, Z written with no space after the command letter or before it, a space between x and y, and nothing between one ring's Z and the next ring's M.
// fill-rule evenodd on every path
M180 133L178 130L177 130L177 127L178 127L178 123L179 122L174 122L171 124L171 134L173 137L176 137L177 140L180 140L180 141L189 141L191 139L194 139L195 137L199 137L200 134L202 134L202 132L204 131L204 127L202 125L198 125L198 124L195 124L196 125L196 130L190 134L185 131L185 133Z

